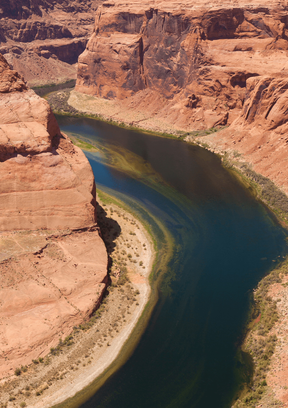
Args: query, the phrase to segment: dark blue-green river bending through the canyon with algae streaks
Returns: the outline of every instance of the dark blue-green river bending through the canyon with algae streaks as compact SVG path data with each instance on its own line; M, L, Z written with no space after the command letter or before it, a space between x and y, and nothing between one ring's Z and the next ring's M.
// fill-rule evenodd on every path
M286 255L286 231L220 157L199 146L56 118L64 133L100 149L85 153L96 187L151 225L160 257L172 247L166 265L155 266L159 297L140 341L82 407L229 407L252 373L239 348L251 293L272 259Z

